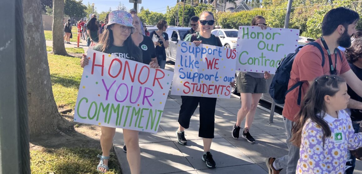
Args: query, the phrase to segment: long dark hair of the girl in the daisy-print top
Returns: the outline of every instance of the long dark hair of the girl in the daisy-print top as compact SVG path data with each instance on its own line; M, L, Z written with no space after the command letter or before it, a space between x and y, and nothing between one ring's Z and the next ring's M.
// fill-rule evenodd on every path
M335 95L340 90L339 85L343 82L345 82L345 80L336 75L320 76L313 81L313 84L310 86L303 99L300 111L297 114L300 119L297 120L292 127L292 138L290 141L295 146L300 146L303 126L308 119L311 119L311 121L321 127L323 130L323 139L331 137L331 129L329 129L327 122L323 120L323 117L327 112L324 96Z

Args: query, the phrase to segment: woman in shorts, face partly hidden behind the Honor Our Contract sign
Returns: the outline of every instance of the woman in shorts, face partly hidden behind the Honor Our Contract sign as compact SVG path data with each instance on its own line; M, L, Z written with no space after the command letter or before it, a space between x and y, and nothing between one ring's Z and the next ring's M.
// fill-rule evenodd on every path
M251 24L252 26L261 27L262 30L266 29L265 18L260 15L255 16ZM268 92L266 80L270 77L271 75L267 71L264 71L264 73L240 71L239 76L237 76L237 91L240 93L241 108L237 112L237 121L232 128L232 137L239 138L240 124L246 117L241 137L247 139L249 143L255 143L255 139L249 133L249 129L253 123L261 94Z

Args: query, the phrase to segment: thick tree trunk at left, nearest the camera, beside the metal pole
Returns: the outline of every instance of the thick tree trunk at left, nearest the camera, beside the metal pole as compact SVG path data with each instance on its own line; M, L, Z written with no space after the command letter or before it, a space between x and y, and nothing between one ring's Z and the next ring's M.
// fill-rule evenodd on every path
M29 134L34 137L69 128L71 124L60 116L54 101L40 0L23 0L23 9Z

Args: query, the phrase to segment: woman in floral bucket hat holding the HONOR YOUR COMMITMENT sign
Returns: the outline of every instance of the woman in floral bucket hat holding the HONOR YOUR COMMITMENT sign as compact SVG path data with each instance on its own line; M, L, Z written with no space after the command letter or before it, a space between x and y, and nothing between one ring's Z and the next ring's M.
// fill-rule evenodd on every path
M101 35L99 43L94 46L94 50L112 54L118 57L130 59L142 63L142 51L134 44L131 34L135 31L132 24L132 16L123 10L114 10L109 13L109 22L105 25L105 30ZM87 55L83 54L80 66L88 65ZM97 170L105 173L109 170L108 160L112 148L112 140L115 128L101 126L101 147L102 155ZM138 144L138 131L123 129L123 137L127 144L127 161L132 174L140 173L140 149Z

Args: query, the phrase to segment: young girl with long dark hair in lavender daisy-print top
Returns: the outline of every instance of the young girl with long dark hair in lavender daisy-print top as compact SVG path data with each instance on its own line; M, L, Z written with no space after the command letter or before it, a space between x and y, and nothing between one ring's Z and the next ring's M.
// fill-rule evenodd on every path
M300 146L296 173L343 174L347 151L362 147L344 111L350 96L342 77L318 77L307 92L292 128L291 142Z

